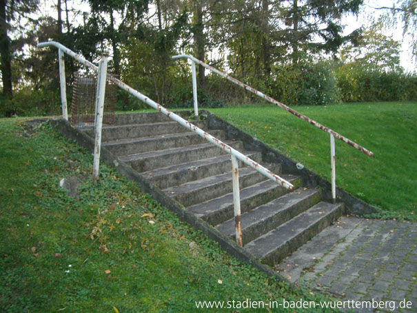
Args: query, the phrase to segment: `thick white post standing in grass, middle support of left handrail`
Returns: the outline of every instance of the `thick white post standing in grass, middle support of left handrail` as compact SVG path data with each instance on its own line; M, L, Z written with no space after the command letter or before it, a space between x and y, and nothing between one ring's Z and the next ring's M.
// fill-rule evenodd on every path
M99 177L100 164L100 147L101 147L101 127L103 125L103 110L104 110L104 95L105 82L107 79L107 63L108 56L103 54L99 63L99 70L97 72L97 92L96 92L96 114L94 117L94 162L92 166L92 179L95 182Z

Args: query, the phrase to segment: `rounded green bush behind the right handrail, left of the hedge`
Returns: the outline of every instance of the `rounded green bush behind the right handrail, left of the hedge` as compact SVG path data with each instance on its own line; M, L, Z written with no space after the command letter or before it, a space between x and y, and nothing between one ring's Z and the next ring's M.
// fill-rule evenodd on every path
M339 103L336 77L329 63L301 59L272 70L272 97L287 105L327 105Z

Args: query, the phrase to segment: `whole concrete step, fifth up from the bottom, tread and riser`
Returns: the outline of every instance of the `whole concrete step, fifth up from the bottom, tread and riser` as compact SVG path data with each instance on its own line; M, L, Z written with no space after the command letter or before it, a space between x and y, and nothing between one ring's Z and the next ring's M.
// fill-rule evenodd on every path
M261 163L261 152L245 152L245 156ZM239 161L239 168L246 165ZM143 172L142 175L155 183L159 188L166 189L174 185L181 185L188 181L198 181L208 176L221 174L232 169L230 155L213 156L208 159L201 159L187 163L170 165L165 168L157 168L149 172Z

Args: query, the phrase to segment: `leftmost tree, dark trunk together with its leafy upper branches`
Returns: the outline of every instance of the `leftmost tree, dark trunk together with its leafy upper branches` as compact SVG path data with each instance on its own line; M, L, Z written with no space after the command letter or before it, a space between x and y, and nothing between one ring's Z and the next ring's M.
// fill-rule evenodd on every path
M12 21L37 10L39 0L0 0L0 62L3 96L12 98Z

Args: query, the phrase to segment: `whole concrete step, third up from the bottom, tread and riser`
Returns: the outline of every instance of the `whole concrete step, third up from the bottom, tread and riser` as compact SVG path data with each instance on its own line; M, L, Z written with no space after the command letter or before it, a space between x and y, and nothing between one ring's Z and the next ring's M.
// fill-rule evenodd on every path
M301 184L299 176L287 174L282 174L280 176L292 183L296 188L298 188ZM263 205L278 198L279 196L283 196L283 194L286 194L287 192L288 190L281 187L274 181L270 181L269 179L261 183L256 183L255 185L251 185L250 187L243 188L240 192L241 212L244 213L252 210L259 205ZM219 196L216 199L192 205L188 208L188 210L212 225L223 223L228 219L232 219L234 216L233 194L231 192L229 194L225 194L224 196Z

